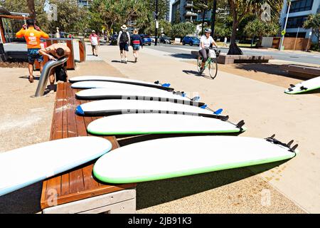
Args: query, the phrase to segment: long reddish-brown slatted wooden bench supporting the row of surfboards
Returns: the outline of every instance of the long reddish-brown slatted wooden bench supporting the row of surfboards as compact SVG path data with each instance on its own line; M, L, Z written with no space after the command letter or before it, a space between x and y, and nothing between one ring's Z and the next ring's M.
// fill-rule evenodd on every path
M80 101L70 83L58 83L50 140L89 135L86 126L97 118L75 115ZM115 137L112 150L119 147ZM66 148L68 152L70 148ZM41 209L43 213L134 213L136 184L106 185L92 177L95 161L43 181Z

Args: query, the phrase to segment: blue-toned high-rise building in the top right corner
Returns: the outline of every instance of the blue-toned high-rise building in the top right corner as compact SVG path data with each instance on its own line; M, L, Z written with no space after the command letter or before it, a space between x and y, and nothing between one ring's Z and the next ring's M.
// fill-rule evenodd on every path
M287 18L288 7L287 0L284 0L280 16L282 29ZM316 42L317 38L311 33L311 29L303 28L304 21L310 14L320 14L320 0L292 0L285 36L309 38L311 35L311 41Z

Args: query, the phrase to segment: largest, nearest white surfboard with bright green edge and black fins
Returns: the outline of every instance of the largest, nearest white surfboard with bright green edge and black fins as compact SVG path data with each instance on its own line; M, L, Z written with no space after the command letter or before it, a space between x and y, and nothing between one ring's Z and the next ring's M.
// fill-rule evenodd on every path
M297 154L278 140L189 136L137 142L108 152L93 167L102 182L145 182L288 160Z

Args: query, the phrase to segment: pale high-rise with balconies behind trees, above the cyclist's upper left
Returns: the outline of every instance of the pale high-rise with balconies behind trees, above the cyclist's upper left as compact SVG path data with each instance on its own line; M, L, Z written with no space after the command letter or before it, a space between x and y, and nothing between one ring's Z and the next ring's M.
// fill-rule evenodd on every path
M178 21L195 21L197 18L197 12L193 11L193 1L190 0L176 0L172 4L171 8L171 22L177 21L176 17L178 16Z

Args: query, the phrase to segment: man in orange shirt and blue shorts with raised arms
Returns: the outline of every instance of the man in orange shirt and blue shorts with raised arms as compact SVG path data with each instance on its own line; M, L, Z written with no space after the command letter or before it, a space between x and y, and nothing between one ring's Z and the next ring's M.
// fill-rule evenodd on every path
M17 38L26 38L28 47L28 69L29 81L33 83L33 63L38 61L40 63L40 72L43 69L43 56L39 53L41 48L40 38L49 38L47 33L41 31L38 26L35 26L33 19L28 19L20 31L16 33Z

